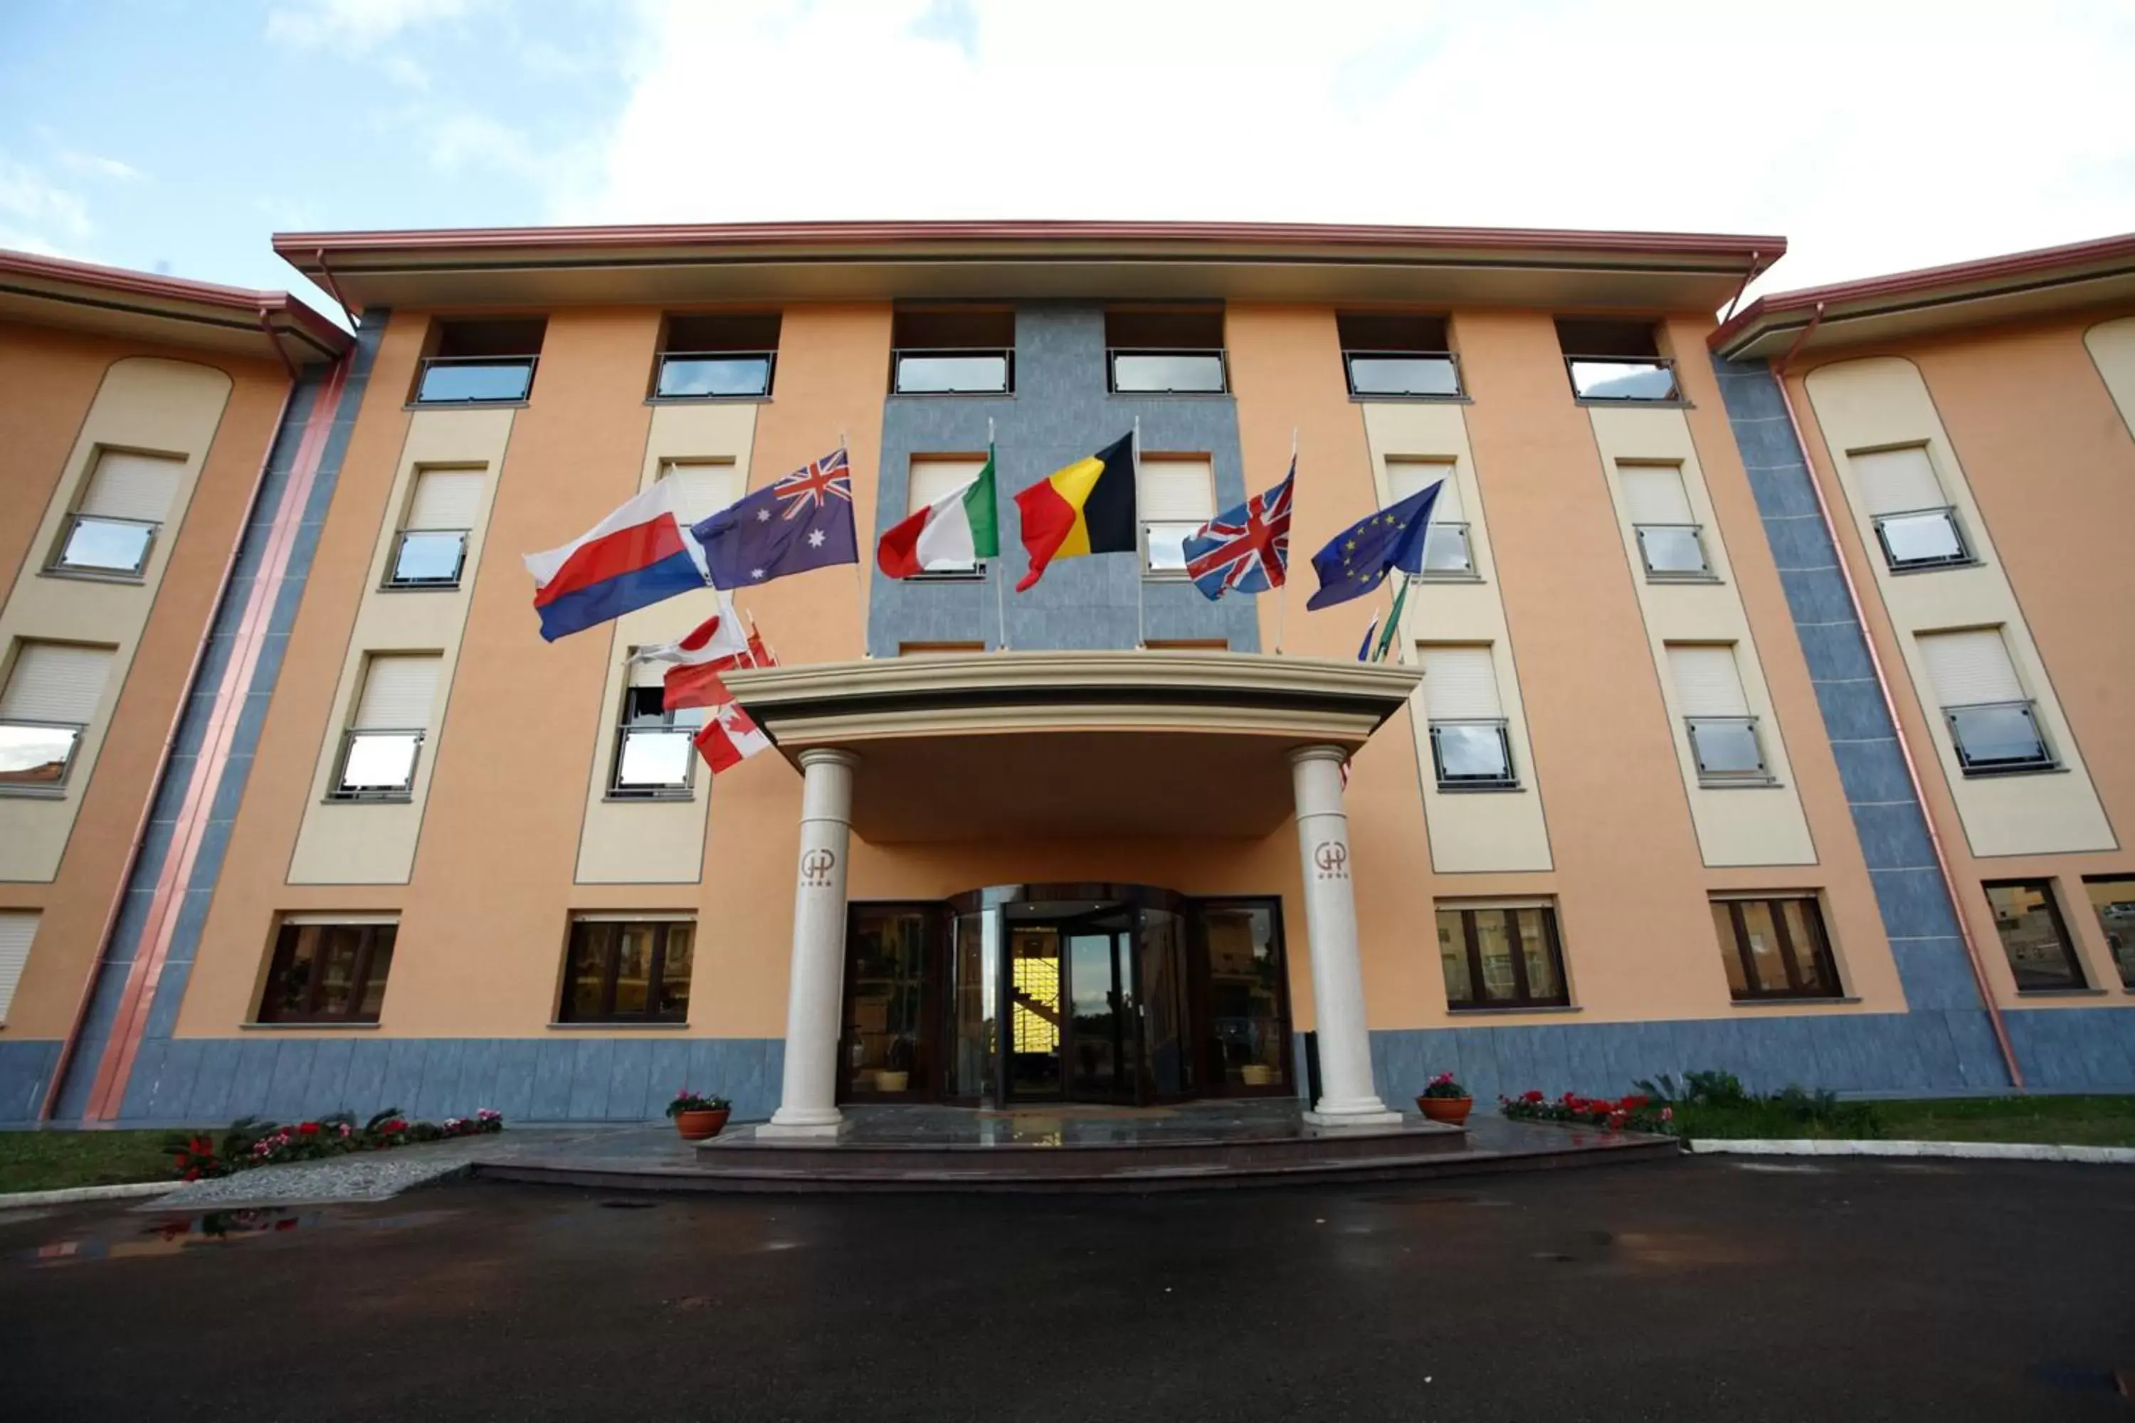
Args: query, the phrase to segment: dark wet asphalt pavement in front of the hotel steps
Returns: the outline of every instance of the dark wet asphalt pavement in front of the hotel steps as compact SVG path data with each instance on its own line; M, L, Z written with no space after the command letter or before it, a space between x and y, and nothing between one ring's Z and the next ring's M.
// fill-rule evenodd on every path
M2135 1171L0 1214L15 1419L2131 1419Z

